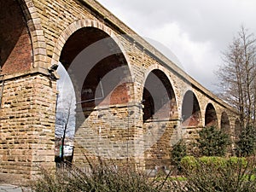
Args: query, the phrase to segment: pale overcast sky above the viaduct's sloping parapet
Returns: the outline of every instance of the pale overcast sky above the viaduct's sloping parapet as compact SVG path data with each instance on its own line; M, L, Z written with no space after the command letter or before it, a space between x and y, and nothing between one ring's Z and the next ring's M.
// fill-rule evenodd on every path
M221 53L245 26L256 33L256 0L98 0L143 38L169 48L183 70L216 91Z

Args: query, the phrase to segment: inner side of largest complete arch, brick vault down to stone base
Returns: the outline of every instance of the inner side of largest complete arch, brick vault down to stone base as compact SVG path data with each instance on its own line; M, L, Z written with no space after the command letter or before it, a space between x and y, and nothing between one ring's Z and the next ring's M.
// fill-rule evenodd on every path
M79 146L74 156L77 161L84 161L83 151L93 158L102 156L102 159L109 158L109 153L118 154L111 150L116 150L113 148L116 141L128 141L127 130L117 129L120 125L124 128L129 125L129 91L133 86L128 63L119 45L108 33L84 27L67 39L60 62L75 92L74 138ZM108 141L99 143L102 139ZM127 151L125 147L127 145L122 146L122 153ZM125 156L122 153L119 152L120 156Z

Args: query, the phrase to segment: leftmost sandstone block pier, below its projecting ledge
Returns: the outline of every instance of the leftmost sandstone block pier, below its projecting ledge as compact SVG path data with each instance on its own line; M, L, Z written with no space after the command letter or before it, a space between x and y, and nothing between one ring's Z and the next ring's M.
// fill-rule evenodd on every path
M38 172L38 166L54 166L53 90L55 82L40 74L4 81L0 171L4 174L1 178L8 183L30 179Z

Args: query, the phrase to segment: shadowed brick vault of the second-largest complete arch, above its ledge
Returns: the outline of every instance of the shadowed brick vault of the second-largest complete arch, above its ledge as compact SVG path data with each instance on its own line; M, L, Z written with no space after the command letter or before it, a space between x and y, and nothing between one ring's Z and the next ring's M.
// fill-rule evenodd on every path
M148 119L177 119L176 95L166 73L153 69L143 86L143 122Z

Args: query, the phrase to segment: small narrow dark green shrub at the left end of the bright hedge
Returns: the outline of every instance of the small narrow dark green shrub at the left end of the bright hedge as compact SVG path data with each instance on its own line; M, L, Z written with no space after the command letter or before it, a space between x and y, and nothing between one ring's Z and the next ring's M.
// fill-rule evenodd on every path
M184 156L187 155L187 148L183 140L180 140L176 143L171 151L171 161L172 165L177 168L178 171L181 171L180 161Z

